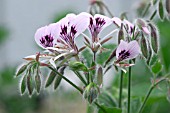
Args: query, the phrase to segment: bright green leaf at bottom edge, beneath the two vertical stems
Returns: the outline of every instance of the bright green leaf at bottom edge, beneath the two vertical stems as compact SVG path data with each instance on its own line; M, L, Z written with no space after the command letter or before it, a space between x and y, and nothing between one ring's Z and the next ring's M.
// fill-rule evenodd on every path
M102 105L101 108L99 108L98 113L122 113L122 110L120 108L107 107Z

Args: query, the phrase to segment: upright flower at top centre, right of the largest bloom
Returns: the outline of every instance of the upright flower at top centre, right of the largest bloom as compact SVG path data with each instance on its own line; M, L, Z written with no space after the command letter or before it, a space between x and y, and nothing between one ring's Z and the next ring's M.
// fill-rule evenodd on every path
M99 41L98 34L111 23L111 18L104 15L95 14L94 17L90 16L89 31L92 36L92 43L97 43Z

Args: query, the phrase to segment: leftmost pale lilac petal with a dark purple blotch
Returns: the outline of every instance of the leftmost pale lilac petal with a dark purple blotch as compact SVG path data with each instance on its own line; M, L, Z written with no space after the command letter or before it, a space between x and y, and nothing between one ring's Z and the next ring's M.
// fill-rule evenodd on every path
M53 47L54 36L51 33L50 26L39 28L35 33L35 41L42 48Z

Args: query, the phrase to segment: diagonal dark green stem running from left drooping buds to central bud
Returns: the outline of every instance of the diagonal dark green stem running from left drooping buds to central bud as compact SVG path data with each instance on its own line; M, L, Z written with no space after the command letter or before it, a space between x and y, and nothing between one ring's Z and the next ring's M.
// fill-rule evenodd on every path
M61 76L65 81L67 81L70 85L72 85L74 88L76 88L78 91L80 91L80 93L83 93L83 90L81 88L79 88L78 86L76 86L73 82L71 82L69 79L67 79L65 76L63 76L62 74L60 74L57 70L55 70L54 68L48 66L48 68L50 68L52 71L54 71L56 74L58 74L59 76Z

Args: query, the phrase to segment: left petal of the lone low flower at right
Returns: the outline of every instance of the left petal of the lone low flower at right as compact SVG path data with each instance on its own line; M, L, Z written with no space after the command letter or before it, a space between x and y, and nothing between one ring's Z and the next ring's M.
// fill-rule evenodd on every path
M118 45L116 49L116 58L119 59L119 54L121 51L127 50L128 43L124 40L120 41L120 44Z

